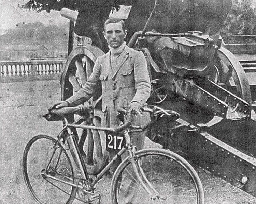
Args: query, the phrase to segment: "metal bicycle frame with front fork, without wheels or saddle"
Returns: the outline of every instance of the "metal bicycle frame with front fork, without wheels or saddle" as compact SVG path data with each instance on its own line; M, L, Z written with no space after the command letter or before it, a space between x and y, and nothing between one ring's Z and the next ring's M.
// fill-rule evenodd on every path
M84 160L83 160L81 153L78 149L77 141L75 140L74 135L72 133L72 128L82 128L82 129L87 129L87 130L90 129L90 130L101 130L101 131L112 131L112 132L115 132L115 129L114 128L96 127L96 126L91 126L91 125L79 125L79 124L76 124L76 122L70 124L70 123L67 123L67 120L65 119L66 125L64 126L64 128L61 130L61 132L57 136L58 140L55 145L59 144L64 149L68 145L69 151L67 151L67 154L69 155L72 166L75 167L74 168L74 177L75 177L75 179L80 180L80 182L78 182L78 184L74 184L71 182L60 180L60 179L56 178L55 176L47 174L47 169L45 169L42 172L42 176L44 176L44 178L53 179L53 180L77 187L86 193L95 195L93 193L95 184L102 178L104 173L110 169L111 165L115 162L115 160L117 160L117 158L119 156L121 156L123 153L125 153L128 150L129 159L131 160L131 164L132 164L132 169L134 170L135 176L137 177L138 181L143 186L145 191L151 195L152 199L161 199L161 200L166 199L166 198L161 197L161 195L154 189L154 187L147 180L142 168L140 167L139 161L136 162L136 158L134 157L135 147L131 145L130 136L129 136L128 132L124 133L126 145L114 156L114 158L111 160L111 162L98 174L98 176L94 180L90 179L87 169L86 169L86 166L84 164ZM65 144L65 141L67 141L67 145ZM55 154L55 151L54 151L53 155L54 154ZM49 168L50 163L51 163L51 159L47 165L47 168ZM68 179L72 180L71 178L68 178ZM50 181L48 181L48 182L50 182Z

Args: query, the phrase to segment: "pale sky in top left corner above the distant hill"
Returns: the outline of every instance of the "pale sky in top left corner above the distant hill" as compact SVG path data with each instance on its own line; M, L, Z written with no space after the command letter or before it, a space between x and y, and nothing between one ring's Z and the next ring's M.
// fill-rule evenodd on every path
M29 0L1 0L0 15L1 15L1 30L8 28L15 28L18 23L33 23L42 22L44 24L64 24L68 22L68 19L62 17L60 12L51 11L46 13L45 11L37 13L35 11L29 11L18 8L18 4L22 5Z

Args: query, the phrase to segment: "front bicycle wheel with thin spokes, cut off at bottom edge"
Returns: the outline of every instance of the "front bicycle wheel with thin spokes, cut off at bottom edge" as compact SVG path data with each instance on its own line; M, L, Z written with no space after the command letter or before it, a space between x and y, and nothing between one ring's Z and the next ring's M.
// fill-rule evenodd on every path
M134 159L138 174L129 158L114 173L112 203L204 203L202 183L195 169L180 155L163 149L144 149L136 152Z

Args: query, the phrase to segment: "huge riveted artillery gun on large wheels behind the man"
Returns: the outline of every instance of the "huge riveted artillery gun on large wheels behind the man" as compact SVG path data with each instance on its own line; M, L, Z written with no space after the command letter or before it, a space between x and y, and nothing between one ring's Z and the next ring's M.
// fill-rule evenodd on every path
M129 6L127 2L119 4ZM125 10L129 10L127 44L141 50L148 62L152 83L148 102L181 115L175 123L162 118L158 122L166 128L157 131L153 125L148 137L256 197L256 39L252 36L254 43L243 45L229 40L224 47L218 31L230 8L231 0L132 1ZM98 23L108 16L96 17ZM62 100L86 82L96 58L106 50L97 29L92 32L96 37L89 36L93 45L89 38L78 36L79 46L73 49L72 29L86 33L77 24L79 18L75 25L79 29L70 23ZM95 125L102 117L100 95L99 91L92 99L98 107ZM96 171L106 160L104 133L82 132L77 137L81 149L85 142L91 147L87 163L91 172Z

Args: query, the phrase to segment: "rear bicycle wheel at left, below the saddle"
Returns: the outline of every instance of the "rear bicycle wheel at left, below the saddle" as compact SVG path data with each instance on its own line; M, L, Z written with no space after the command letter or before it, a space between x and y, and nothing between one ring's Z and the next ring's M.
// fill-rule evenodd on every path
M23 154L23 175L33 198L40 204L71 204L76 188L45 177L54 176L74 183L73 168L66 151L47 135L37 135L28 143ZM47 167L48 166L48 167Z

